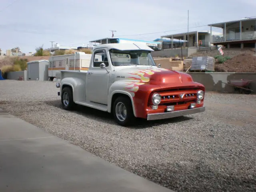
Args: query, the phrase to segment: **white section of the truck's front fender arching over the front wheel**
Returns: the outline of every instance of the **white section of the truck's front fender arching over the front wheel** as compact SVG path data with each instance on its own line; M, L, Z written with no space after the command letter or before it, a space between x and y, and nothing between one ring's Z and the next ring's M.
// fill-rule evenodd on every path
M119 94L124 94L124 95L127 95L131 102L132 102L132 110L133 110L133 114L135 117L136 116L136 110L135 110L135 106L134 106L134 100L133 100L133 96L131 92L128 92L125 90L125 84L127 84L129 82L127 81L116 81L114 82L109 90L108 90L108 112L110 113L111 112L111 107L112 107L112 98L114 96L114 94L116 93L119 93Z

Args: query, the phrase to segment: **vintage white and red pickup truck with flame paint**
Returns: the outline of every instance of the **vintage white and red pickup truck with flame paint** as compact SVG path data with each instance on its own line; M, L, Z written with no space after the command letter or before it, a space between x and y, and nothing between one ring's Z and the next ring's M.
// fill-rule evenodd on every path
M112 113L122 126L136 118L158 120L205 111L202 84L184 72L156 66L143 44L102 44L92 52L87 72L60 70L62 106L83 105Z

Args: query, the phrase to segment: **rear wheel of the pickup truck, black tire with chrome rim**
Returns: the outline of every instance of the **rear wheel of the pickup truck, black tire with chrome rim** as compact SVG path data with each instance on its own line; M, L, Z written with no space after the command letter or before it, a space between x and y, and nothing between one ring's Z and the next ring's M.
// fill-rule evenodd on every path
M73 92L69 87L64 87L61 92L61 103L65 110L74 109L75 103L73 100Z

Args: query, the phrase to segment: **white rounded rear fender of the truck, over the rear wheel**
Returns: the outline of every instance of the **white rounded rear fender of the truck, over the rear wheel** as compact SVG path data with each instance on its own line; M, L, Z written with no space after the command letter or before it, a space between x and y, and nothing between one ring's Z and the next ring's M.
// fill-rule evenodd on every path
M84 101L86 98L85 81L76 77L66 77L61 80L60 87L62 90L63 85L69 85L72 87L73 100Z

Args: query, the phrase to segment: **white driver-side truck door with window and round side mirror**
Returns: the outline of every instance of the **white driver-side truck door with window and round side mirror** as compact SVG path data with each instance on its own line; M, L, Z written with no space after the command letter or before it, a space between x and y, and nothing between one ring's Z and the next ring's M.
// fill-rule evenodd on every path
M106 49L95 50L92 55L92 63L86 78L86 100L100 104L108 104L108 77L111 66ZM106 69L100 68L104 63Z

